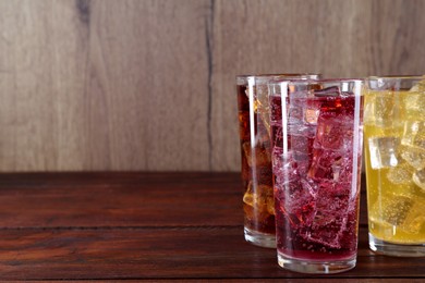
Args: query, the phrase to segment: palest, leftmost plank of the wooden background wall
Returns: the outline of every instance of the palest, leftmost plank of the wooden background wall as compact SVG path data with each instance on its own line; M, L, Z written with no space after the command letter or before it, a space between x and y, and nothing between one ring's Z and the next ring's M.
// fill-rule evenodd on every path
M87 26L75 1L0 1L1 171L82 169Z

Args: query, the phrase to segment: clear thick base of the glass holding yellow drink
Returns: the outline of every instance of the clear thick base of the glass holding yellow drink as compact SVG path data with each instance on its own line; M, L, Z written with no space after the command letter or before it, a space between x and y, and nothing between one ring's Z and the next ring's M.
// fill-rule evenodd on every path
M401 245L376 238L369 233L369 247L373 251L394 257L425 257L425 244Z

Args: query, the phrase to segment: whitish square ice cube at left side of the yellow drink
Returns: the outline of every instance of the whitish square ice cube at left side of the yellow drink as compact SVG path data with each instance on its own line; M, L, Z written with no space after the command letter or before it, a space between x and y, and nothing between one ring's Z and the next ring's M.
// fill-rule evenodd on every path
M397 167L399 144L398 137L369 137L371 167L373 169Z

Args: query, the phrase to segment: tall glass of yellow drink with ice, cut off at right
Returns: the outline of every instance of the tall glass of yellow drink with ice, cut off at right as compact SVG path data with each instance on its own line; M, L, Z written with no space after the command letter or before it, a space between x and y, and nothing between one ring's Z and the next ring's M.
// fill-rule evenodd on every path
M425 256L425 77L365 81L369 247Z

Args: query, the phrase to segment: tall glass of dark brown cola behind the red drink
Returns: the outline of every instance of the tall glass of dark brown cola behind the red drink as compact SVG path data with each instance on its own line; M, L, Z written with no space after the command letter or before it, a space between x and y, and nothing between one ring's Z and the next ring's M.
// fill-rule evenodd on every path
M315 74L241 75L236 77L244 189L245 239L276 247L267 84L282 78L317 78Z

